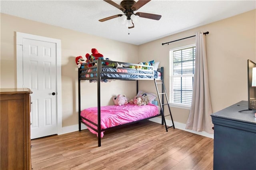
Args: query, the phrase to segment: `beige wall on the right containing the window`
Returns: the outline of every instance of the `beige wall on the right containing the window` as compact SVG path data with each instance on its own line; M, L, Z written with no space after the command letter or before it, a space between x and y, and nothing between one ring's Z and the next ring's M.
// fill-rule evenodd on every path
M194 44L195 38L169 45L162 43L189 37L201 31L210 32L206 36L206 50L213 112L241 100L247 101L247 59L256 62L256 10L140 45L139 60L160 61L160 66L165 67L164 81L169 91L169 51ZM189 110L171 109L174 121L186 123Z

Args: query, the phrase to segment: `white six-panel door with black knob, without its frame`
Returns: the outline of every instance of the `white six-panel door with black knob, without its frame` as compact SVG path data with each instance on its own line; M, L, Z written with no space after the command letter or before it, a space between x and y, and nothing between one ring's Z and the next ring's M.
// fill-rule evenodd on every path
M56 43L23 39L23 80L33 92L31 139L57 134Z

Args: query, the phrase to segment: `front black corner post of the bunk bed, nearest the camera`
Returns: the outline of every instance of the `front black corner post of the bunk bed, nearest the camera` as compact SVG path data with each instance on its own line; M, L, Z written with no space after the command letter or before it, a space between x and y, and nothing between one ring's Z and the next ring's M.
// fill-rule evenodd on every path
M100 119L100 73L102 70L102 63L100 59L97 61L97 99L98 99L98 147L101 146L101 119Z

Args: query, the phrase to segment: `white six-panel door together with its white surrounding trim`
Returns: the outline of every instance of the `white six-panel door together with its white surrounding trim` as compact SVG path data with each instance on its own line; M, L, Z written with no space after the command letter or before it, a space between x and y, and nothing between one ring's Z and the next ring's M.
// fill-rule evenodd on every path
M61 40L16 32L16 68L32 90L31 138L62 134Z

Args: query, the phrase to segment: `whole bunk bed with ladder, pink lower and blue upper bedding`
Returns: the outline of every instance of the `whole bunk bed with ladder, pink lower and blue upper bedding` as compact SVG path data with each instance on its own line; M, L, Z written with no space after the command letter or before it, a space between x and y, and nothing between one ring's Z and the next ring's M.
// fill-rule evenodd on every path
M88 67L89 64L90 64L90 67ZM160 101L160 107L152 104L148 104L145 106L136 106L136 105L130 106L129 104L122 105L122 106L118 106L118 105L101 106L100 104L100 97L101 97L100 82L107 82L108 80L111 80L111 79L135 80L136 89L138 93L138 80L154 80L155 84L156 84L156 80L159 80L163 84L163 76L164 76L163 67L158 68L157 70L154 70L153 66L150 66L150 65L108 61L108 60L102 60L102 59L97 59L89 63L83 63L82 66L78 68L79 131L81 131L81 123L83 123L91 132L97 134L98 146L101 146L101 138L103 137L103 132L105 132L106 130L161 116L162 125L165 125L166 132L168 132L169 127L166 126L166 121L164 118L164 110L162 107L162 105L164 104L161 103L160 95L159 95L159 94L164 94L163 90L165 89L162 88L162 93L159 93L157 85L156 85L156 89L158 93L158 99ZM83 111L81 111L81 89L80 89L81 88L80 81L82 80L89 80L97 83L97 107L84 109ZM162 101L163 100L164 98L162 97ZM124 109L124 107L126 109ZM129 110L129 112L132 112L133 109L138 110L138 107L145 107L145 109L142 109L140 111L141 114L135 114L136 116L132 115L133 118L129 121L117 120L117 122L121 122L121 124L116 122L114 123L105 122L105 121L108 121L106 119L108 119L110 115L111 116L114 115L116 117L123 117L123 116L126 117L126 113L123 113L122 111L127 110L128 107L129 109L131 109ZM119 111L116 109L119 109ZM111 114L108 114L110 112ZM119 112L121 116L118 115ZM107 114L107 116L104 116L104 114ZM116 118L113 118L113 119L116 119ZM106 125L106 124L110 124L110 125ZM174 125L173 125L173 128L174 128Z

